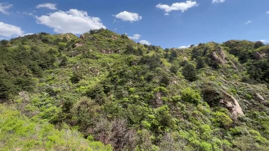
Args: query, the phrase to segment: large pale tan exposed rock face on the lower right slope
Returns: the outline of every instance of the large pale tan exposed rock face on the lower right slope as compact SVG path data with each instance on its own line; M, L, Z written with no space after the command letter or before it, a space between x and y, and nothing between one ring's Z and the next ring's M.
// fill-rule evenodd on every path
M220 103L223 104L231 113L231 119L234 122L237 122L238 115L244 115L241 106L239 105L237 99L235 99L232 95L223 91L224 99L220 100Z

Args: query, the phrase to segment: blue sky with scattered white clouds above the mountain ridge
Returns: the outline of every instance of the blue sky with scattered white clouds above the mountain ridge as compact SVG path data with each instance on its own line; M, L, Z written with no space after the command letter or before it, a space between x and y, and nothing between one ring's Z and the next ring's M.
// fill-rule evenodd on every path
M269 43L269 0L0 0L0 40L99 28L162 48Z

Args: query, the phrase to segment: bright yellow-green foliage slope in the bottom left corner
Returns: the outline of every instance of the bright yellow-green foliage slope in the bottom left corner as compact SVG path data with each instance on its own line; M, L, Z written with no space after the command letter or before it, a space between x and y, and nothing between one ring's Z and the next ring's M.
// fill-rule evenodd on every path
M33 122L14 108L0 104L0 150L13 151L18 148L23 151L112 151L109 145L83 139L75 130L67 127L57 130L47 122Z

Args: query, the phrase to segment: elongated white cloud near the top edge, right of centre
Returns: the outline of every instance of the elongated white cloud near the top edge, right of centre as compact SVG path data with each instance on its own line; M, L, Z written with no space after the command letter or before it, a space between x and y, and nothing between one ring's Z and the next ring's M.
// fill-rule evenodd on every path
M156 5L157 8L163 9L166 12L165 15L168 15L168 12L172 10L180 10L181 12L184 12L194 6L198 6L198 3L192 0L187 0L185 2L175 2L172 3L170 6L162 3Z

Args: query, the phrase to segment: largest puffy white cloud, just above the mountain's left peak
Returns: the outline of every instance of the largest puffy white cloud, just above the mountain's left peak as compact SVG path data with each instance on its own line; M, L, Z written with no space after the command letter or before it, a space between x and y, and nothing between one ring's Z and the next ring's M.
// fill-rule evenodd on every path
M88 16L86 11L70 9L48 15L36 16L37 23L46 25L57 33L82 34L91 29L106 28L99 17Z

